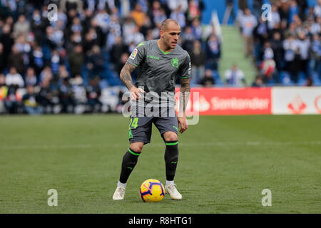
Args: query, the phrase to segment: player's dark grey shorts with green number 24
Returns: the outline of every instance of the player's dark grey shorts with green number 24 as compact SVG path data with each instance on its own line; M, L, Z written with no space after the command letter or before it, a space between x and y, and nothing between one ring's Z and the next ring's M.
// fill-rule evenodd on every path
M166 115L136 115L131 114L128 125L129 142L151 142L152 124L158 128L163 138L163 134L172 131L178 134L178 120L173 108L166 108ZM170 113L170 114L169 114ZM164 112L163 112L164 114ZM165 139L163 138L165 141Z

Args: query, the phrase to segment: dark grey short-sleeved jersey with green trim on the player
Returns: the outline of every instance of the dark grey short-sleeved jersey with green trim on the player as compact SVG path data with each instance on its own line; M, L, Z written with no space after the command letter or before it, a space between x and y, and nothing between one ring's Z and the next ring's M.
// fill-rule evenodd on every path
M175 103L175 81L177 77L190 78L191 66L188 52L176 45L173 51L164 53L157 40L141 42L131 53L128 63L138 67L136 87L146 93L154 92L161 103ZM166 95L167 94L167 95ZM150 100L146 98L146 103Z

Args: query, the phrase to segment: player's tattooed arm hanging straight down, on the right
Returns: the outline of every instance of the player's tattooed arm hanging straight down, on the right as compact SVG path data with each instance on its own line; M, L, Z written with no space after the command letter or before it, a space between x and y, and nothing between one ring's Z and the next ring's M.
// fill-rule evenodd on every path
M180 125L180 133L188 128L188 122L185 115L188 100L190 98L190 78L180 79L180 106L178 110L178 124Z

